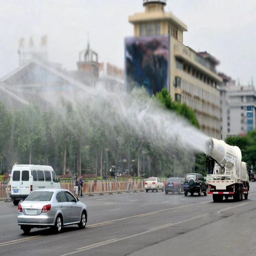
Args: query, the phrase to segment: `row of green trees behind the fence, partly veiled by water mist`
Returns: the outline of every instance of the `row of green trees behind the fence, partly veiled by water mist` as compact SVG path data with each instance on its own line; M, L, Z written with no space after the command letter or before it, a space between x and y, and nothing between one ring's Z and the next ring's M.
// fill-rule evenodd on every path
M144 88L134 89L131 97L150 98ZM194 111L185 103L174 102L164 88L152 102L163 109L175 111L199 128ZM93 112L84 105L62 99L61 111L42 111L30 102L22 109L6 110L0 102L0 163L1 172L14 164L51 165L58 175L86 174L88 176L184 176L186 172L208 173L207 157L176 150L169 151L159 144L148 142L125 124L110 128L99 121L95 125ZM194 152L196 153L196 152ZM108 168L107 168L108 165Z

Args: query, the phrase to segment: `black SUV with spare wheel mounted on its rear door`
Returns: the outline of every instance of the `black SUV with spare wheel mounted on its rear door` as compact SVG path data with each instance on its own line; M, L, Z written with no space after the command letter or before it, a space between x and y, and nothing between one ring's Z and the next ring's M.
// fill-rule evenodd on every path
M184 195L187 196L188 192L191 196L194 193L198 193L198 196L201 196L202 193L207 195L207 183L204 179L204 176L200 173L187 173L184 182Z

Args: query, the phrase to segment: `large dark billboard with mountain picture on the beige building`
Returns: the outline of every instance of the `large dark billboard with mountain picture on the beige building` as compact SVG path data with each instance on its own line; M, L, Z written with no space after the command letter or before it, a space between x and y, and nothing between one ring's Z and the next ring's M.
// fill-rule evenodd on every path
M144 86L152 95L168 88L169 36L125 38L126 91Z

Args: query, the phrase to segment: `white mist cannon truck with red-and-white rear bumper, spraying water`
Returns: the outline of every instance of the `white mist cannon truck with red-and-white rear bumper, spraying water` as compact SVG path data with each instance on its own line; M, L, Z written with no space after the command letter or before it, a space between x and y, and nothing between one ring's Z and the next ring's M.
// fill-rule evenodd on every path
M208 194L214 202L221 202L223 196L235 201L248 198L249 176L247 164L241 162L241 150L222 140L210 138L205 145L205 154L215 160L213 174L207 175Z

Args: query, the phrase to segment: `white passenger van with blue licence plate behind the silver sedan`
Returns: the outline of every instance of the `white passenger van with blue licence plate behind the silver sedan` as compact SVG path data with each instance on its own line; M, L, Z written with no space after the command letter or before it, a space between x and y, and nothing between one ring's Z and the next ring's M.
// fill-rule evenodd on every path
M48 165L14 165L9 193L14 205L24 200L32 191L40 188L60 188L54 169Z

